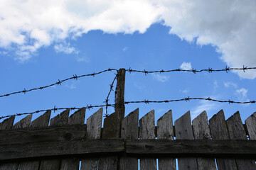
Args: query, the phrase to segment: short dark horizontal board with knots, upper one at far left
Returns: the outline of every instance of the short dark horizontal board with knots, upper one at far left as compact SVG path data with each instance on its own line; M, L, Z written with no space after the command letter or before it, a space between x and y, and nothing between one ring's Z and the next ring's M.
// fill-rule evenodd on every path
M1 130L0 145L85 139L86 125Z

